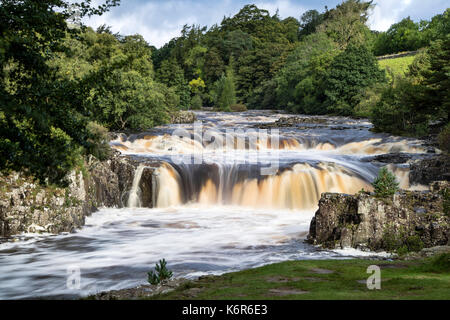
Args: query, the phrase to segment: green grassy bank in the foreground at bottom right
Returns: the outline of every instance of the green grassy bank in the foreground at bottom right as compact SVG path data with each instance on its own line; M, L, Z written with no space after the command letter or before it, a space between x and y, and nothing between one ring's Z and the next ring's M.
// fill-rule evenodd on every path
M450 255L419 261L288 261L191 281L151 299L450 299ZM381 290L369 290L367 267L381 267ZM333 273L320 274L313 269Z

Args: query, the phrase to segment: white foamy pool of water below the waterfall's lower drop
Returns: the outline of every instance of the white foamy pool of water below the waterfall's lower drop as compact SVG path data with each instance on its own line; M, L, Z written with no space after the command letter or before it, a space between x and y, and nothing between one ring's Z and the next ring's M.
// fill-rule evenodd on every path
M146 282L161 258L195 277L275 261L322 257L303 238L311 212L240 207L102 209L74 234L0 244L0 298L77 296ZM66 287L81 270L81 290Z

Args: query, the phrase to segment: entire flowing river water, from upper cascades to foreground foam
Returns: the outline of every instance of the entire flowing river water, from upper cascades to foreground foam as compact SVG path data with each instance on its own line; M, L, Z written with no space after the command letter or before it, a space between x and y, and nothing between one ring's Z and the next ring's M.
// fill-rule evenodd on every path
M74 233L0 243L0 298L76 298L133 287L161 258L175 277L195 278L284 260L374 254L304 243L320 195L371 190L382 164L369 160L377 154L420 157L426 150L414 139L372 133L364 120L303 117L294 126L259 130L284 116L197 112L195 126L119 136L111 145L124 155L161 164L153 174L155 208L141 208L142 164L126 208L102 208ZM407 167L389 168L403 188L418 187L409 185Z

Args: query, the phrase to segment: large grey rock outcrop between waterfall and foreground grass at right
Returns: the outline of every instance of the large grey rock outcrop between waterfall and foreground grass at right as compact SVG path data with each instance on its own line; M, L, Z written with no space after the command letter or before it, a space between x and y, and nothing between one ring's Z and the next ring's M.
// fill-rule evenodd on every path
M447 245L450 217L443 212L441 192L447 187L448 183L437 183L430 192L401 191L389 199L324 193L307 241L325 248L371 250Z

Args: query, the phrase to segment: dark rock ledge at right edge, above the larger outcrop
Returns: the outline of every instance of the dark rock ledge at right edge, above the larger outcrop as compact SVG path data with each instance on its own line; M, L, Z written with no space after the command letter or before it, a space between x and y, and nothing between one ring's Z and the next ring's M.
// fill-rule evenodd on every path
M429 184L433 181L450 181L450 156L438 155L417 160L411 164L410 182L412 184Z

